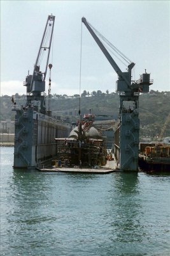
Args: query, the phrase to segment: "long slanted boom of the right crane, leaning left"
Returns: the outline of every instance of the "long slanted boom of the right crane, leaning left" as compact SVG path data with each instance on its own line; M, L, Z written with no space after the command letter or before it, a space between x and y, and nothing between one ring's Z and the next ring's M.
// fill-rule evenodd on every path
M107 60L110 62L111 66L114 68L115 72L117 72L118 77L121 79L123 78L124 81L127 83L127 86L131 86L131 70L134 67L134 63L131 63L128 68L129 68L129 76L125 76L125 73L122 72L122 70L120 70L120 68L118 67L117 63L115 62L115 60L113 60L113 58L111 57L110 53L106 50L106 47L104 47L103 43L101 42L101 40L99 40L98 36L96 35L96 33L94 33L93 29L90 27L89 23L87 22L87 20L85 19L85 17L83 17L81 19L81 21L85 24L85 26L87 27L87 29L89 30L90 34L92 35L92 37L94 38L94 40L96 41L97 45L99 45L101 51L103 52L103 54L106 56Z

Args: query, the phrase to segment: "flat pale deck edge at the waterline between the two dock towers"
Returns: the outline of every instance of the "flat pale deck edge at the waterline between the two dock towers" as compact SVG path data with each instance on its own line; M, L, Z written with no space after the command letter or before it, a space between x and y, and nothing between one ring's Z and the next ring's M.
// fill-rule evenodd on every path
M69 172L69 173L111 173L117 171L116 161L107 161L106 166L94 167L94 168L80 168L79 166L72 167L49 167L43 166L41 168L36 168L39 172Z

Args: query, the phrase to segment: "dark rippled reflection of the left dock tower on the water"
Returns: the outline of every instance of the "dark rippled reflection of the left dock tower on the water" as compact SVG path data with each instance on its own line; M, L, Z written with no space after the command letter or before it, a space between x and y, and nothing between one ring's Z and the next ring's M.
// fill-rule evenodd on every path
M38 248L39 241L45 239L43 226L55 220L53 214L46 214L50 196L48 179L36 170L13 170L10 189L11 207L6 218L8 244L17 253L26 247ZM50 230L47 235L48 232ZM13 237L20 240L15 241Z

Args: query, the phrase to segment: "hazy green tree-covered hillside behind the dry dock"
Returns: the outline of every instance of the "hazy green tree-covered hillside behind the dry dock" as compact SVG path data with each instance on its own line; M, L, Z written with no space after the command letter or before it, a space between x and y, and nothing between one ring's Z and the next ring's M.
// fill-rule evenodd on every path
M25 95L15 94L15 102L17 105L25 104ZM14 111L11 111L11 97L4 95L1 98L1 121L6 119L15 119ZM81 100L80 100L81 99ZM139 118L140 118L140 134L141 136L159 136L160 131L164 127L166 118L170 113L170 92L144 93L139 97ZM108 115L112 118L118 118L118 93L103 93L101 91L89 92L84 91L79 95L68 97L67 95L52 95L50 99L50 109L53 115L60 116L61 119L69 118L71 122L75 122L78 117L79 106L81 113L92 113L95 115ZM48 99L46 99L46 109L48 109ZM164 136L170 136L170 124L167 124Z

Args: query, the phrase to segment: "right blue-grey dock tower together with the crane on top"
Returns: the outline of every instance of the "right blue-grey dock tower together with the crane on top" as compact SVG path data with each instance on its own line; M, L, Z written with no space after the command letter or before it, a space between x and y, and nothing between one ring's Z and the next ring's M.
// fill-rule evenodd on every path
M142 74L138 81L132 81L132 68L135 64L131 62L127 67L127 72L122 72L97 35L103 39L106 38L92 27L85 17L81 21L85 24L97 45L99 45L101 51L118 74L117 92L119 92L120 97L119 123L115 131L114 143L114 153L118 168L124 171L138 171L139 93L149 92L149 86L153 83L153 80L150 80L150 74L147 74L145 70L145 74Z

